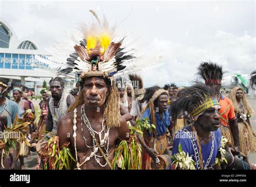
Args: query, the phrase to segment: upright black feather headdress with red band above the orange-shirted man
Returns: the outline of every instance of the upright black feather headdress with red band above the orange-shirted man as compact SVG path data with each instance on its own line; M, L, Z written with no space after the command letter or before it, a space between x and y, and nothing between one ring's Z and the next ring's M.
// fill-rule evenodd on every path
M221 84L223 78L222 66L213 62L202 62L198 69L198 75L205 80L207 85Z

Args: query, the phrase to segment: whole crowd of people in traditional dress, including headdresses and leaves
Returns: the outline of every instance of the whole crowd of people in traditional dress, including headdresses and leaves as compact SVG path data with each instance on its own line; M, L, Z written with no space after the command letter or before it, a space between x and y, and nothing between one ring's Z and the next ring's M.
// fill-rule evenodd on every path
M6 152L1 141L2 168L16 169L19 157L25 169L24 156L36 150L37 169L255 169L247 156L256 151L254 111L242 88L220 93L219 64L201 62L198 75L204 82L195 78L191 87L145 88L131 70L118 74L136 59L122 46L124 39L95 37L95 28L58 70L76 73L77 88L66 93L63 78L52 78L39 120L21 88L0 80L0 130L15 125L16 116L29 121L27 141L16 142L16 149ZM14 101L5 97L11 89Z

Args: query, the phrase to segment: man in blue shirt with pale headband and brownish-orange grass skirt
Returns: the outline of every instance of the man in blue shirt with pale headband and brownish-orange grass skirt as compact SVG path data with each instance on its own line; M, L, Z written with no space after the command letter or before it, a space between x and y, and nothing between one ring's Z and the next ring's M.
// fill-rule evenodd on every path
M148 103L142 118L149 119L149 124L156 126L150 132L147 130L143 134L143 140L138 136L142 144L142 168L152 169L151 161L159 163L157 155L162 155L168 147L166 131L170 127L170 116L167 110L168 93L158 86L146 89L145 101Z

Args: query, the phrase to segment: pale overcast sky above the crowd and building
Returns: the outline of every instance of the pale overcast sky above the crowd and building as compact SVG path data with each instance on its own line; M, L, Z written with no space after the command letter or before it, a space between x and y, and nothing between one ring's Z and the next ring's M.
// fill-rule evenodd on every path
M223 64L230 74L256 69L254 1L2 1L1 17L19 39L44 49L90 24L95 10L110 24L138 37L163 56L163 65L143 73L146 87L169 82L185 85L201 61ZM143 49L142 49L143 50Z

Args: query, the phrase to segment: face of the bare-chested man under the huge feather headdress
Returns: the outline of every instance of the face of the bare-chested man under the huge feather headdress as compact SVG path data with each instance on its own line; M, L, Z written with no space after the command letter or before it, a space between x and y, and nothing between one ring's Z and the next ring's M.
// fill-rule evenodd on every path
M105 80L98 77L89 77L83 83L85 106L102 106L109 94Z

